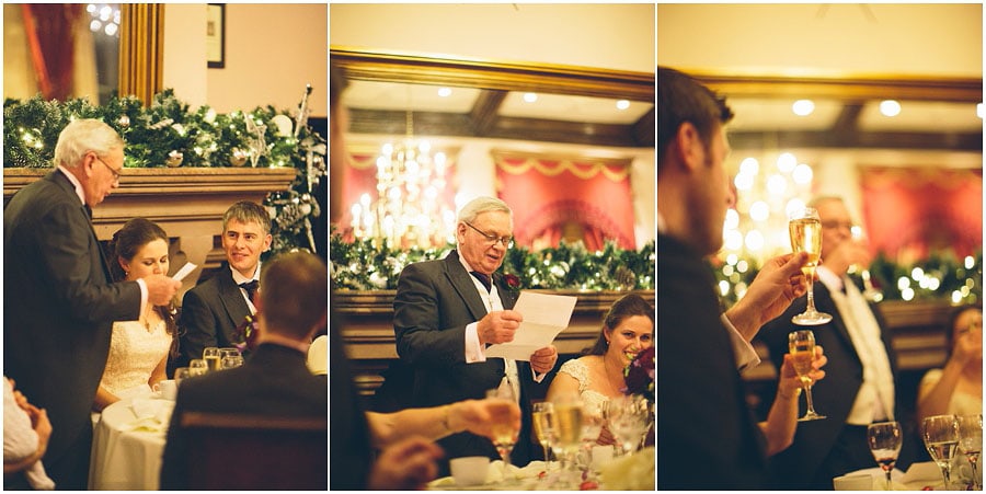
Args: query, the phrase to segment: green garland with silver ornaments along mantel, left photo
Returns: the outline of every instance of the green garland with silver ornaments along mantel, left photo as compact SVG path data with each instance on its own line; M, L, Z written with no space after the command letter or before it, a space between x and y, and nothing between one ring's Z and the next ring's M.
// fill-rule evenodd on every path
M288 111L270 105L248 113L220 114L207 105L192 111L172 89L156 94L148 107L135 96L114 95L102 106L85 99L8 99L3 102L3 166L51 166L58 135L73 118L96 118L113 127L127 142L125 168L177 161L181 166L245 166L251 164L251 151L256 166L294 166L291 188L264 199L273 218L272 254L313 249L311 222L321 216L321 208L311 191L325 176L325 139L308 125L295 128L297 122ZM259 136L249 131L246 118L264 128L263 149L256 143Z

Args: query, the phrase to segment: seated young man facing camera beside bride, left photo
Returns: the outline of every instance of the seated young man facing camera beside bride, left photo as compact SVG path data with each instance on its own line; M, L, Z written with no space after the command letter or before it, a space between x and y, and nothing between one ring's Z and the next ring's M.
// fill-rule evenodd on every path
M256 313L253 294L260 280L263 252L271 249L271 217L263 206L242 200L222 215L226 263L208 280L185 292L182 301L181 356L173 368L202 358L209 346L233 346L237 328ZM172 369L173 371L173 369Z

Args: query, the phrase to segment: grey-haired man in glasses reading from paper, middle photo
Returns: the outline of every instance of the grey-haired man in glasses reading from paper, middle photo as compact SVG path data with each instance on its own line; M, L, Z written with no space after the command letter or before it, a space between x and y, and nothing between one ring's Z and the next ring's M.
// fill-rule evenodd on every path
M493 197L462 207L456 227L458 246L448 256L408 265L393 300L393 330L401 360L413 369L412 406L436 406L482 399L486 390L508 389L521 409L521 428L511 453L514 464L540 458L530 438L530 398L558 360L553 345L530 361L486 358L488 345L511 342L523 317L511 310L517 301L496 271L513 245L511 208ZM470 433L438 441L449 458L488 456L498 459L490 439Z

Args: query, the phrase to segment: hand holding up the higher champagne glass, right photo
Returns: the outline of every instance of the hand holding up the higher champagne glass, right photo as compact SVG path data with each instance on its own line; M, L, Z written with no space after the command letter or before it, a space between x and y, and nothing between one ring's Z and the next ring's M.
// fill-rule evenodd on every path
M749 284L746 295L725 315L749 342L767 321L784 313L798 297L807 291L807 279L801 266L807 254L784 254L768 260Z

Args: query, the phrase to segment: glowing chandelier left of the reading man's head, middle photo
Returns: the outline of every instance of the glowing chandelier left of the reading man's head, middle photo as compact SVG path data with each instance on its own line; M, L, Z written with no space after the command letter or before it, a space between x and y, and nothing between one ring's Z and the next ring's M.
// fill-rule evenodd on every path
M353 234L391 248L444 246L455 242L455 211L445 194L448 159L414 139L410 111L406 128L406 137L385 143L377 158L377 197L363 194L353 205Z

